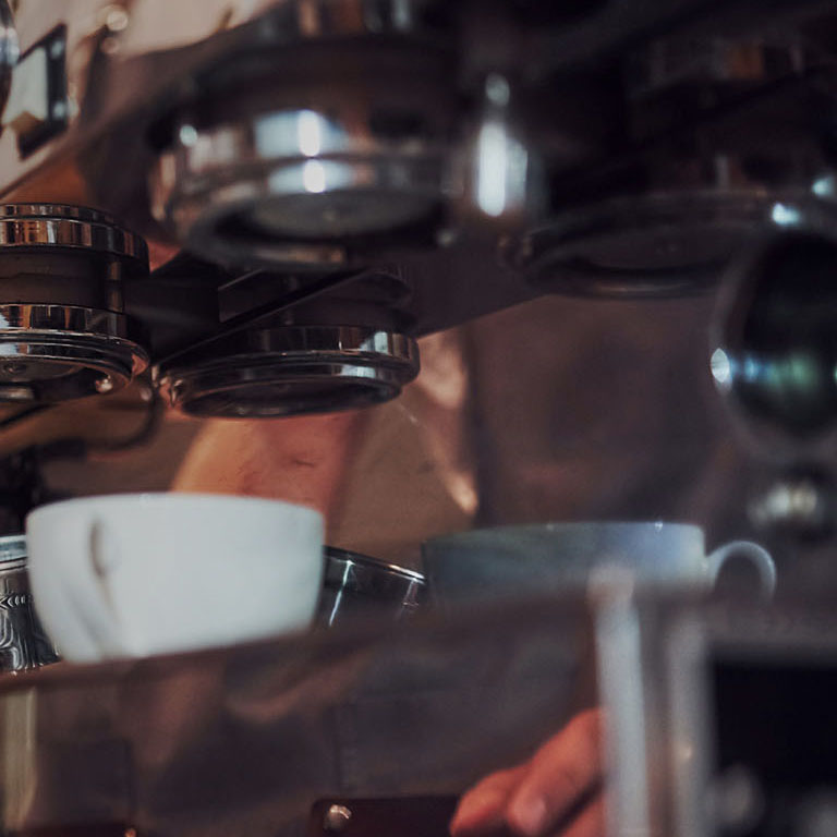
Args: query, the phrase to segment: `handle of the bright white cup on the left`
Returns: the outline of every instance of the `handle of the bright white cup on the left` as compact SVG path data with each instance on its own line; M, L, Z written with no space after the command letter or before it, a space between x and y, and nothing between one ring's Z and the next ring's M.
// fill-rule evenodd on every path
M100 520L94 519L87 525L86 533L87 560L78 563L74 578L78 599L76 607L101 656L122 657L128 648L119 612L107 584L108 574L119 563L117 541Z

